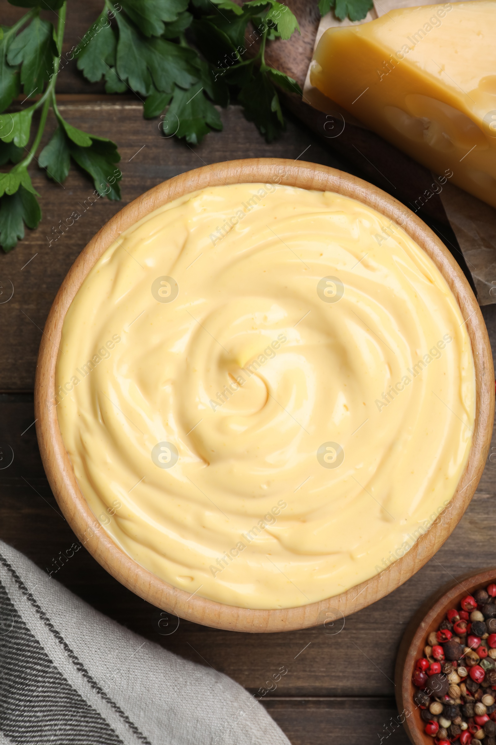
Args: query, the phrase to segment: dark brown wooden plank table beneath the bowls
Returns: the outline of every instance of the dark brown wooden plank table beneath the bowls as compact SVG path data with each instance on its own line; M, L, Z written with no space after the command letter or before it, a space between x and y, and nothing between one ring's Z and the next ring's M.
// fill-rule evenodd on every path
M12 22L20 10L0 0L2 23ZM93 0L69 4L65 47L84 33L99 10L100 3ZM74 25L72 16L77 16ZM295 159L304 152L306 160L351 170L296 118L289 118L282 139L267 145L233 106L222 111L223 132L189 148L162 137L157 121L144 121L136 98L104 95L99 86L88 86L74 65L62 72L59 92L68 121L118 143L123 202L97 200L74 226L57 232L74 209L84 209L93 186L73 170L62 188L48 182L35 165L31 175L41 194L42 222L36 231L27 231L16 250L0 256L0 302L10 295L10 282L14 290L13 297L0 305L0 443L4 451L10 446L14 452L13 463L0 470L0 538L48 571L71 546L74 535L51 494L36 444L36 353L59 284L88 239L124 203L205 163L259 156ZM49 121L48 134L53 127ZM483 314L496 349L495 306L486 306ZM52 576L120 624L227 673L253 693L286 665L288 674L263 703L294 745L368 745L379 743L381 737L388 745L405 744L408 739L396 721L393 668L406 624L425 598L453 577L496 565L496 507L491 501L496 495L496 441L493 451L466 515L436 557L396 592L348 617L335 634L318 627L250 635L181 621L175 633L163 635L157 609L124 589L86 551L78 551Z

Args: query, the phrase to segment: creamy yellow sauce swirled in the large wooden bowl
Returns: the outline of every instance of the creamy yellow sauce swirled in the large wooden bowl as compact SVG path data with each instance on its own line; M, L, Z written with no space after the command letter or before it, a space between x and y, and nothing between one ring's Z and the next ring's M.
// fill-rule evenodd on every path
M62 438L129 556L247 608L336 595L450 501L474 427L457 302L338 194L206 188L120 235L65 317Z

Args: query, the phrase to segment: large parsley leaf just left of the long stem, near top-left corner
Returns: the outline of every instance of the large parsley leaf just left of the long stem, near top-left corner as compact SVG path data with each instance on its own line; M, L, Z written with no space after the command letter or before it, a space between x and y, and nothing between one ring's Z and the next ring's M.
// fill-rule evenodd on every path
M22 65L21 83L25 95L41 93L43 83L54 70L54 56L58 57L54 27L50 22L34 16L24 31L13 39L7 52L9 65Z

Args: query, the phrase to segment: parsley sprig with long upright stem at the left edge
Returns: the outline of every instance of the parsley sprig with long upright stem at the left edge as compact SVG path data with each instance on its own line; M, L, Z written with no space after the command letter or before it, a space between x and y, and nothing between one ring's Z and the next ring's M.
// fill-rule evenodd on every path
M57 10L57 29L40 18L37 1L10 2L31 10L10 28L0 27L0 166L13 164L9 171L0 172L0 245L4 252L24 238L25 226L36 228L42 217L28 166L39 148L50 108L56 115L57 129L38 156L48 177L62 183L74 162L93 180L95 191L109 199L120 199L118 182L122 177L116 168L120 156L115 142L73 127L57 107L55 82L60 69L65 1L42 0L44 8ZM21 89L31 101L37 98L36 102L22 111L6 112ZM39 125L31 137L36 110L40 110Z

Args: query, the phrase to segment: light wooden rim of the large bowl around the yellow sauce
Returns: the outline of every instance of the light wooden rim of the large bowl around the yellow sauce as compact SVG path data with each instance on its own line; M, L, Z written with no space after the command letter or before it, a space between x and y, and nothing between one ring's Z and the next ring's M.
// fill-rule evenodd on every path
M466 318L477 378L474 437L468 463L448 508L408 554L387 571L347 592L297 608L250 610L188 595L155 577L112 541L95 520L77 486L62 443L54 407L55 367L65 313L89 270L123 230L152 210L183 194L207 186L232 183L281 183L317 191L335 191L373 207L403 229L431 256L456 297ZM138 197L103 226L76 259L59 289L39 348L35 383L36 433L45 472L60 509L77 537L97 562L117 580L149 603L181 618L206 626L249 632L276 632L317 626L342 618L379 600L408 580L445 542L459 522L483 472L495 408L495 378L489 338L477 300L462 270L441 241L413 212L384 191L350 174L315 163L283 159L247 159L207 165L176 176Z

